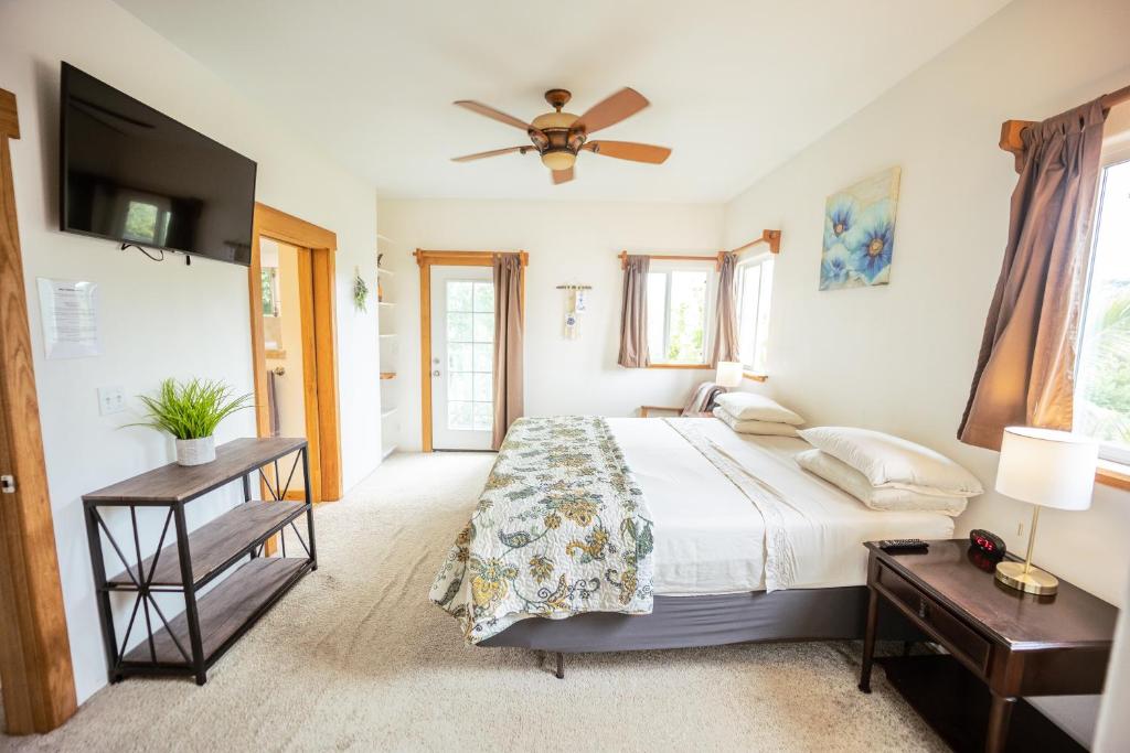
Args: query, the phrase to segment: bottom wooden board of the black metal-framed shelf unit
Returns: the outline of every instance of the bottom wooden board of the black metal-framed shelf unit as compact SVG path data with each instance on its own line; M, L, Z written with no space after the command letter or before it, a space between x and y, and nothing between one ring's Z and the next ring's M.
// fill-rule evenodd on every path
M258 619L310 566L310 560L296 557L255 558L201 596L197 601L197 613L205 660L210 663L226 650L240 629ZM169 628L191 656L188 620L183 612L169 621ZM162 628L154 633L153 642L157 664L185 665L168 630ZM138 643L124 660L133 665L151 664L149 641Z

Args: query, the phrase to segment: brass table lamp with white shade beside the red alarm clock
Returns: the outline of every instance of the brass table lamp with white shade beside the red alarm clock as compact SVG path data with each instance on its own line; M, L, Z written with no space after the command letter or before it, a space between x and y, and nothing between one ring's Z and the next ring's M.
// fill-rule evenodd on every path
M997 580L1026 594L1049 596L1059 588L1050 572L1032 567L1032 546L1041 507L1085 510L1095 489L1098 443L1069 431L1008 427L1000 446L997 491L1029 502L1032 527L1028 553L1023 562L1009 560L997 564Z

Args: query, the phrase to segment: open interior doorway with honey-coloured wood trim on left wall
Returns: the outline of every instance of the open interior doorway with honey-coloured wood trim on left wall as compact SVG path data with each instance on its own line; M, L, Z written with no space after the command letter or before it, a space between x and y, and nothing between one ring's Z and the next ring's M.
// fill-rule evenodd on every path
M260 437L306 438L315 502L341 498L336 252L330 230L255 204L247 271L255 423Z

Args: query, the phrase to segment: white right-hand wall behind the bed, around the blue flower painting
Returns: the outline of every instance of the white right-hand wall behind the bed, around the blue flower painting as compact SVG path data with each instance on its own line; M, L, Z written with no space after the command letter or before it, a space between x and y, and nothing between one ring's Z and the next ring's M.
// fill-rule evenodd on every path
M1040 120L1130 81L1124 0L1017 0L727 207L725 242L781 228L770 380L811 423L871 427L933 447L991 489L997 453L955 435L1000 270L1012 158L1000 123ZM902 190L890 284L817 290L825 198L892 165ZM989 493L958 519L1012 549L1031 508ZM1121 604L1130 496L1049 510L1036 559ZM1088 730L1071 732L1086 737Z

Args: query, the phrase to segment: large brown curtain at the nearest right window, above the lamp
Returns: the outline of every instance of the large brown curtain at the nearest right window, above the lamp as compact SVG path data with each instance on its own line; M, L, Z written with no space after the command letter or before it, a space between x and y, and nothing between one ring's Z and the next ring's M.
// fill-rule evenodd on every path
M1095 100L1025 130L1008 245L957 437L1070 429L1079 319L1106 115Z

